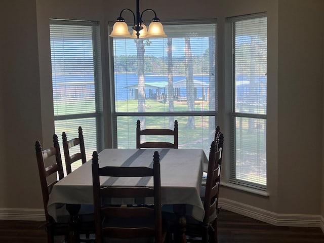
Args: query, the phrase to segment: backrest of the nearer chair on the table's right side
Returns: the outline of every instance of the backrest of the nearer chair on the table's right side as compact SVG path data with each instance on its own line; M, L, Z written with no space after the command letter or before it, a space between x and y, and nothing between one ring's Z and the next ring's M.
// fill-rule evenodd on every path
M213 141L209 153L204 200L205 217L203 222L206 224L214 221L217 216L218 192L221 174L221 164L219 163L220 158L221 149L216 151L216 143Z

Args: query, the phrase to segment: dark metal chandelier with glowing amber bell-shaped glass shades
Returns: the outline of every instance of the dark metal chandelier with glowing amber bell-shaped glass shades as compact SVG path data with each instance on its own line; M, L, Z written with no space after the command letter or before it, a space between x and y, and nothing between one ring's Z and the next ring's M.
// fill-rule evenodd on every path
M128 26L125 22L125 19L121 17L124 11L130 11L134 17L134 25L132 27L133 34L128 30ZM142 16L145 12L151 11L154 13L154 18L152 22L148 26L148 30L145 24L142 21ZM121 10L119 17L112 27L112 31L110 33L111 37L130 37L130 38L163 38L167 37L166 33L163 30L163 25L161 24L159 18L156 17L156 13L152 9L145 9L142 14L139 12L139 0L136 0L136 15L131 9L123 9Z

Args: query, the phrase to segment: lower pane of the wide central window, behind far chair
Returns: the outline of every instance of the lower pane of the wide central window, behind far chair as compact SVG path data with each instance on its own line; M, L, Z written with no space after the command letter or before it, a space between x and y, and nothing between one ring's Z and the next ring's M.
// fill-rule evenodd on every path
M178 120L179 148L204 149L209 154L211 142L214 140L215 117L214 116L145 116L143 117L117 116L118 148L136 148L136 121L140 119L141 129L144 128L170 128L174 129L174 120ZM194 127L187 127L188 119L194 123ZM152 138L147 142L152 141ZM173 142L168 136L153 138L163 142Z

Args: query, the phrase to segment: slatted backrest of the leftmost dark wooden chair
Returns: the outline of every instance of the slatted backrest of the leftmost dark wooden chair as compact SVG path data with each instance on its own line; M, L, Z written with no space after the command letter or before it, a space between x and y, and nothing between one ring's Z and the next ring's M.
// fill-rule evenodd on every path
M52 220L52 217L48 214L47 211L47 204L49 201L49 195L52 191L52 188L55 183L58 182L56 179L56 175L52 176L54 178L50 178L53 181L49 182L49 177L52 174L58 173L59 179L61 180L64 177L63 174L63 166L62 166L62 159L61 159L61 152L60 152L60 145L58 142L58 138L56 134L53 135L53 142L54 147L42 150L42 145L39 141L35 142L35 150L36 150L36 158L37 158L37 165L38 165L38 173L39 179L41 179L41 187L42 187L42 194L43 194L43 203L44 203L44 210L45 210L45 217L47 221ZM45 160L50 160L50 157L55 157L55 163L45 167Z

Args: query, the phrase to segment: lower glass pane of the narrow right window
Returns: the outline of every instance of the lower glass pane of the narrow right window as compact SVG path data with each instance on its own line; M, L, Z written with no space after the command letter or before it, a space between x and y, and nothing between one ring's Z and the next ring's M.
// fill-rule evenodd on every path
M266 185L266 120L236 117L235 178Z

